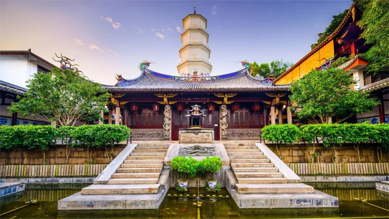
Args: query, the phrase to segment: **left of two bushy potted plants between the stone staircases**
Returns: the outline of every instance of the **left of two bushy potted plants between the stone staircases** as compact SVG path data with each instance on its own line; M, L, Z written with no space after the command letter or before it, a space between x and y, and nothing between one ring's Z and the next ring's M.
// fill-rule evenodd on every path
M195 177L198 171L199 161L192 157L174 157L170 162L170 168L176 170L181 174L178 179L178 186L186 189L190 178Z

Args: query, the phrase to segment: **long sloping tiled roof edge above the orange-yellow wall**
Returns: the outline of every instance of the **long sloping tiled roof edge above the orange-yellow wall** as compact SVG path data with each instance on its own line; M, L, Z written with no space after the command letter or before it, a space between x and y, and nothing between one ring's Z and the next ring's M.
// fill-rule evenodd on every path
M353 5L351 6L351 8L348 10L346 16L344 16L342 22L340 22L339 26L335 29L335 31L333 31L331 33L331 35L328 36L327 39L325 39L323 42L321 42L317 47L315 47L313 50L309 51L308 54L306 54L304 57L302 57L300 60L298 60L298 62L296 62L292 67L290 67L288 70L286 70L282 75L280 75L278 78L276 78L276 80L274 80L274 82L277 82L279 81L280 79L282 79L282 77L284 77L285 75L287 75L289 72L291 72L295 67L297 67L298 65L300 65L303 61L305 61L307 58L309 58L309 56L311 56L312 54L314 54L315 52L319 51L323 46L325 46L328 42L330 42L332 39L334 39L334 37L340 32L340 30L343 28L343 26L346 24L348 18L350 16L352 16L353 14L353 10L356 10L356 6L355 6L355 3L353 3Z

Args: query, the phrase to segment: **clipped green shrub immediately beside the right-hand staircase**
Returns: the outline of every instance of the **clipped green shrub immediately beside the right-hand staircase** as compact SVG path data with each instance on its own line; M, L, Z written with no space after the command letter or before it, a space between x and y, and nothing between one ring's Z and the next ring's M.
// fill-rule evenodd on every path
M281 160L284 157L281 156L281 152L278 147L281 147L281 143L291 143L298 140L299 138L299 129L295 125L285 124L285 125L269 125L262 128L262 137L267 141L276 142L277 153ZM282 149L282 147L280 148Z

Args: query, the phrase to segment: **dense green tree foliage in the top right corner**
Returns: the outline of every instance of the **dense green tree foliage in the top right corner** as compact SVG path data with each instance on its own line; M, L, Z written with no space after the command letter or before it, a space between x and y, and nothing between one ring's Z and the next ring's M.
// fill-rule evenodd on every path
M389 65L389 1L358 1L363 8L363 16L358 25L364 29L363 38L366 44L374 44L364 57L370 64L370 72L377 72Z

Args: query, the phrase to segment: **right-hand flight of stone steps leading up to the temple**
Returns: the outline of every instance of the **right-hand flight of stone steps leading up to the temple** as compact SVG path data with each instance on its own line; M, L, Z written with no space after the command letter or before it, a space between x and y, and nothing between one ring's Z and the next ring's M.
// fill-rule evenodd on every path
M313 193L305 184L288 179L255 143L224 143L239 193Z

